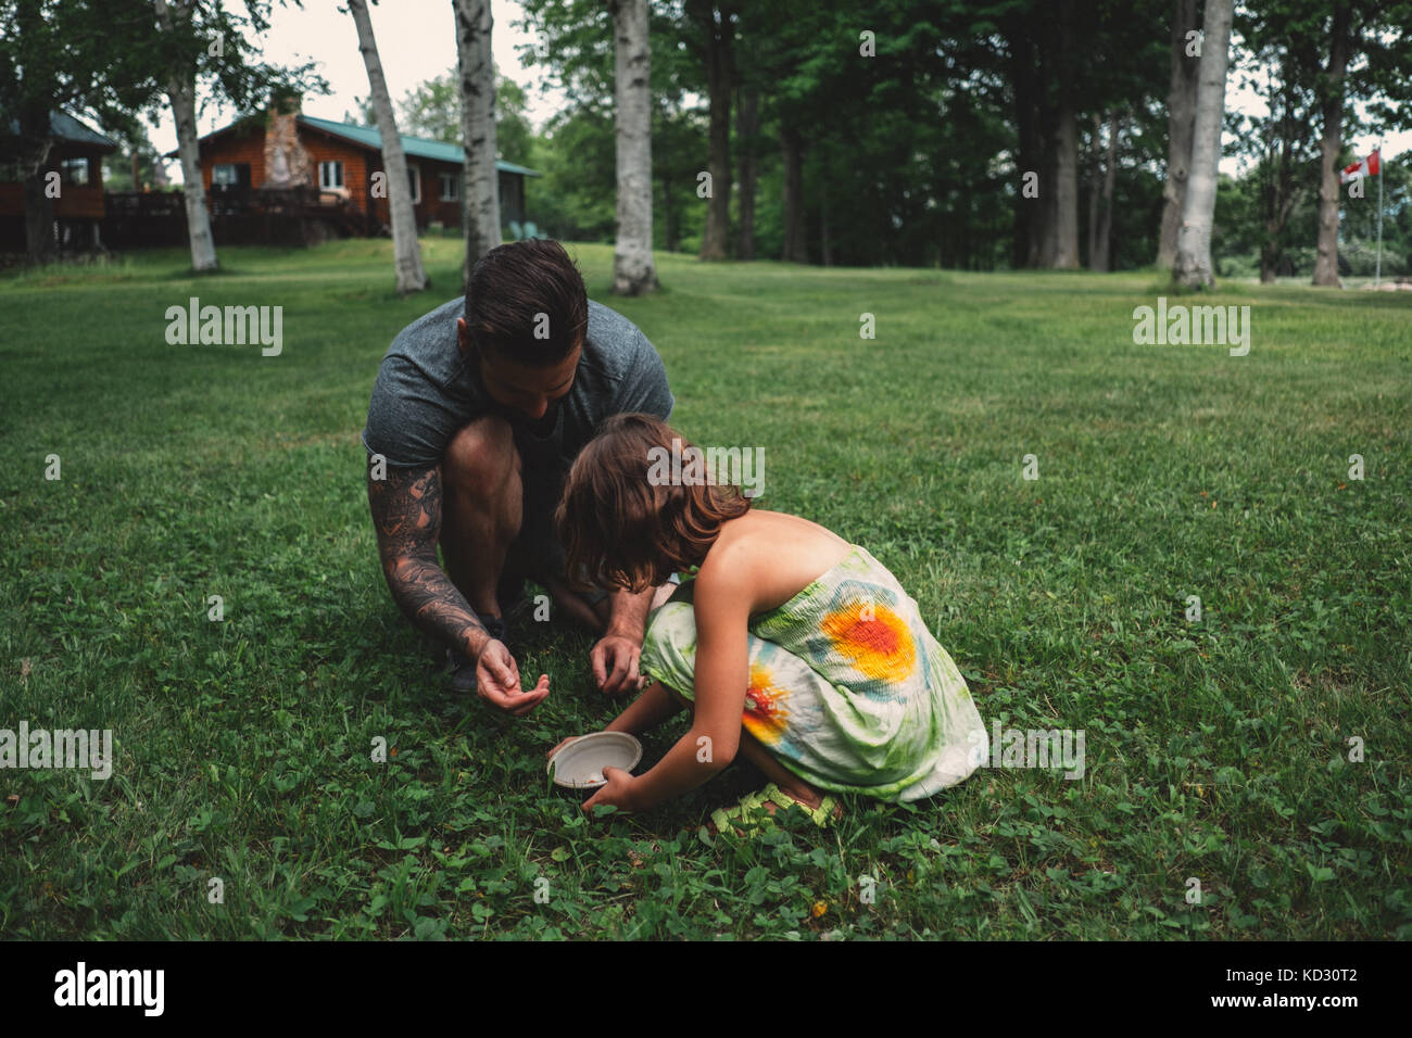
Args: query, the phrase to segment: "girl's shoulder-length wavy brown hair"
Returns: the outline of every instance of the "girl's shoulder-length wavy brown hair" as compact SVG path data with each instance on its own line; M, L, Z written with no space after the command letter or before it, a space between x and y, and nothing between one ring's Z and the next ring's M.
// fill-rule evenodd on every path
M690 443L650 414L614 415L579 453L554 523L575 587L627 587L634 593L700 565L726 520L750 511L733 486L676 486L648 479L654 448L689 458Z

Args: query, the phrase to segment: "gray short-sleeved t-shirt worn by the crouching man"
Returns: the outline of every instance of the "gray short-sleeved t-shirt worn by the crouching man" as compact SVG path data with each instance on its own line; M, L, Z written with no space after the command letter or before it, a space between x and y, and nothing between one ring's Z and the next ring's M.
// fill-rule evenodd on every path
M527 467L566 469L616 414L647 411L666 421L675 400L657 349L631 321L589 299L589 328L573 386L539 422L505 414L480 383L479 362L456 342L465 299L452 299L404 328L373 387L363 429L369 455L393 467L441 465L456 432L486 414L504 415Z

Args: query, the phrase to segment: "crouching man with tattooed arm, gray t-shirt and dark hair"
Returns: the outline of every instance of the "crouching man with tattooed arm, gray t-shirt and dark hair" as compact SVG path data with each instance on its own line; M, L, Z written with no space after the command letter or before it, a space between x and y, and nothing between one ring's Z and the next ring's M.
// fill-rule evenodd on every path
M600 633L590 652L609 693L635 688L654 596L565 582L552 531L563 480L610 415L671 417L662 359L627 318L589 301L558 241L493 249L452 299L393 340L369 404L367 499L393 600L449 647L453 686L522 716L549 695L522 689L505 645L525 578ZM438 562L441 544L445 568Z

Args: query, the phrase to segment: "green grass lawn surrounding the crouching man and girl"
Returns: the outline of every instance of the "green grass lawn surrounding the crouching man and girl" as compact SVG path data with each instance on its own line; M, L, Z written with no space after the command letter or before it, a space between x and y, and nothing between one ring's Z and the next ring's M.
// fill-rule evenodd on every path
M459 294L459 243L424 249L412 299L388 241L0 281L0 727L117 744L107 781L0 771L0 933L1412 935L1412 299L1227 285L1231 357L1134 345L1151 273L659 256L664 291L614 301L611 247L570 247L662 353L675 424L762 446L762 507L888 565L987 726L1086 733L1082 780L984 768L706 839L741 767L600 821L546 782L620 709L586 634L513 634L554 688L515 722L448 693L388 597L359 431L391 338ZM281 356L169 346L191 295L282 306Z

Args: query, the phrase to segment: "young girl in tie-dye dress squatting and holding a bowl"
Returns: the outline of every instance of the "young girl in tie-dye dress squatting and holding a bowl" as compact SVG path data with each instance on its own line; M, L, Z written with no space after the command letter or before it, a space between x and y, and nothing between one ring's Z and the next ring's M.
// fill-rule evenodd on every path
M825 825L823 791L914 801L974 771L980 713L887 568L736 487L664 480L659 459L689 449L658 418L617 415L579 453L555 515L566 571L602 587L641 592L699 566L650 617L640 668L652 684L607 730L638 734L682 706L692 727L642 775L606 768L585 809L644 811L737 754L771 784L716 812L719 828L789 801Z

